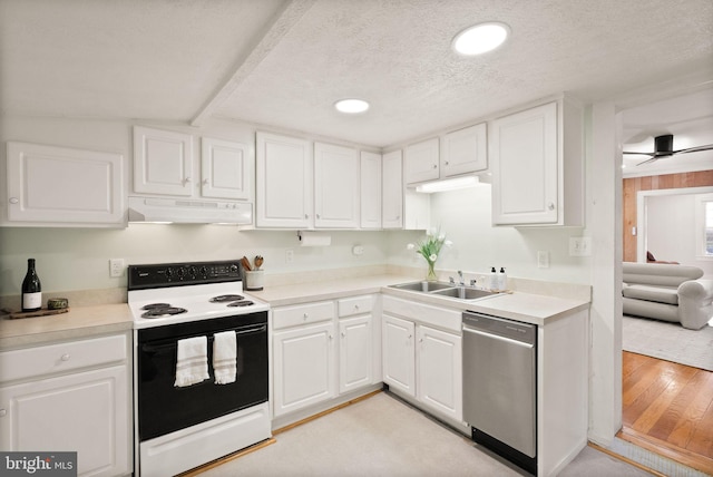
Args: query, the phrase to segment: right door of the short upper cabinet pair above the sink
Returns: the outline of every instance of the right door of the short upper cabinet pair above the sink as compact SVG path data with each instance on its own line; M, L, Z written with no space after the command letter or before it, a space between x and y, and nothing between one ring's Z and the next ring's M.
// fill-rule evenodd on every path
M488 168L486 124L448 133L443 137L441 177L475 173Z

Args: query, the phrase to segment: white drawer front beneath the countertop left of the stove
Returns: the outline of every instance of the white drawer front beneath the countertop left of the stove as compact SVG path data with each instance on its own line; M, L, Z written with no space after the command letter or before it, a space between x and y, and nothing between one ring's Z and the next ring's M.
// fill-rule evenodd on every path
M126 334L48 344L0 353L2 382L121 361Z

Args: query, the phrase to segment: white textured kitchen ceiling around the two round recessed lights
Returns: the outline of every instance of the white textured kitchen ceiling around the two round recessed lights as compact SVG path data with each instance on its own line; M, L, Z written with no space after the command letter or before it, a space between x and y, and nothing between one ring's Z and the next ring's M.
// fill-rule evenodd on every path
M491 20L511 28L504 47L451 51ZM6 115L224 117L387 147L558 93L713 78L713 2L0 0L0 57ZM338 115L345 97L371 109Z

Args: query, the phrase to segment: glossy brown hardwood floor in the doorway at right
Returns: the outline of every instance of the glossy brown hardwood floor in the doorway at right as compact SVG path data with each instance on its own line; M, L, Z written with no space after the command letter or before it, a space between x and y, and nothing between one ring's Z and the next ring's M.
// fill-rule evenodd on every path
M713 372L623 353L617 436L713 475Z

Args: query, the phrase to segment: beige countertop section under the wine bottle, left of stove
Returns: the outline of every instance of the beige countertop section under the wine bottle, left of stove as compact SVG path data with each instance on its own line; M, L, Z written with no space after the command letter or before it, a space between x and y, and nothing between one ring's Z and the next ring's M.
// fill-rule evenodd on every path
M130 330L128 304L70 308L48 317L0 319L0 350Z

